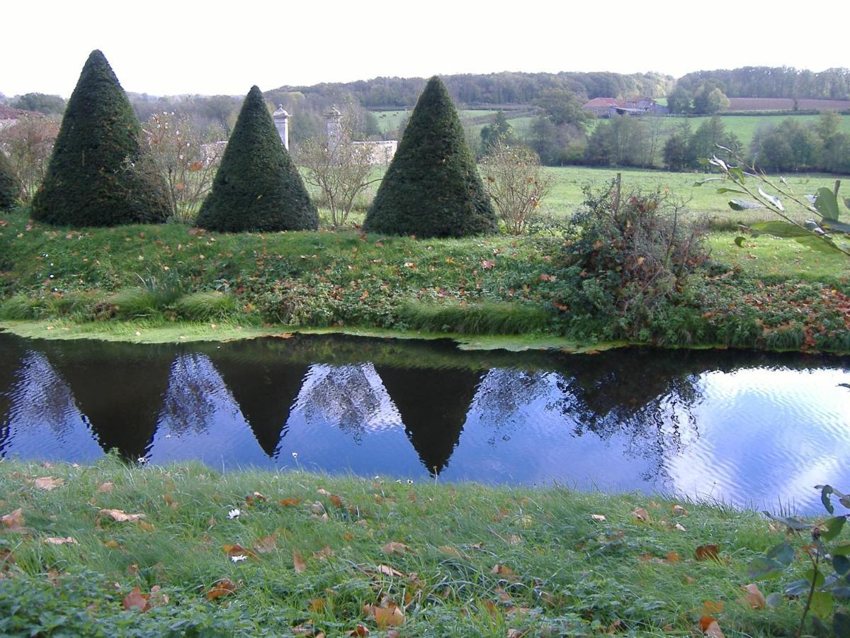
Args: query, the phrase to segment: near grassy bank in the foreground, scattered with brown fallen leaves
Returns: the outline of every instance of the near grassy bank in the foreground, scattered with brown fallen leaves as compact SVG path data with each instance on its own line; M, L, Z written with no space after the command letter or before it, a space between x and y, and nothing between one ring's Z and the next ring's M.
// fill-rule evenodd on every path
M692 635L706 615L791 635L802 612L740 602L782 533L722 506L109 457L2 462L0 494L3 635Z

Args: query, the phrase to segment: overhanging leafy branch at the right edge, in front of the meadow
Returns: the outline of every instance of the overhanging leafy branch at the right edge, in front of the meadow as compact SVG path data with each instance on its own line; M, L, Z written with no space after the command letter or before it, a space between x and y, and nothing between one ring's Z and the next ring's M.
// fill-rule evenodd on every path
M850 257L850 243L836 241L837 239L846 240L850 236L850 224L838 219L838 188L841 185L840 180L836 180L834 190L821 187L814 195L799 197L791 189L791 186L788 185L788 182L785 181L785 178L779 178L781 185L777 185L767 174L745 162L734 151L723 146L719 148L727 151L731 157L734 157L739 162L739 165L731 166L717 156L704 160L704 162L719 168L722 177L702 179L694 185L701 186L712 181L731 182L733 186L723 186L718 188L717 192L723 195L727 193L745 195L751 197L754 201L736 198L729 202L729 208L736 211L766 208L782 219L781 221L757 222L751 225L742 224L742 228L750 231L754 236L764 233L776 237L787 237L813 250L839 252ZM757 186L754 188L748 182L748 179L755 180ZM762 186L777 194L769 194ZM813 214L814 217L806 219L801 223L797 219L794 219L793 215L787 211L783 200L785 202L795 203L806 214ZM850 198L844 200L844 205L850 208ZM735 238L735 243L739 246L743 241L743 237Z

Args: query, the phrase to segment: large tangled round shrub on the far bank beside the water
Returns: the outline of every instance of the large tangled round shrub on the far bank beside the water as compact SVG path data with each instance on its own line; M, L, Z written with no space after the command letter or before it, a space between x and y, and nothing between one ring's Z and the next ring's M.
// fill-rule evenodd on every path
M604 326L605 339L643 339L683 301L687 276L705 261L701 228L660 193L623 193L617 180L584 194L566 231L560 307L570 321Z

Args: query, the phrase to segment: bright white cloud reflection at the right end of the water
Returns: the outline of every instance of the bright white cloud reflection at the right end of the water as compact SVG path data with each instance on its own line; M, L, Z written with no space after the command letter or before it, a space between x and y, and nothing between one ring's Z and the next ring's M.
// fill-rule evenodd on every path
M744 368L702 379L700 439L667 458L679 492L816 511L813 486L850 485L850 397L838 387L846 372Z

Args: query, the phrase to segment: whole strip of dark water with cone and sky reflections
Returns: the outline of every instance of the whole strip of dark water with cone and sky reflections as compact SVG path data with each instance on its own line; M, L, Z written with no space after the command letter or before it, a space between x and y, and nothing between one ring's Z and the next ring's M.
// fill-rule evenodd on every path
M0 333L0 455L641 490L818 513L850 490L850 359L462 351L295 335L133 345Z

